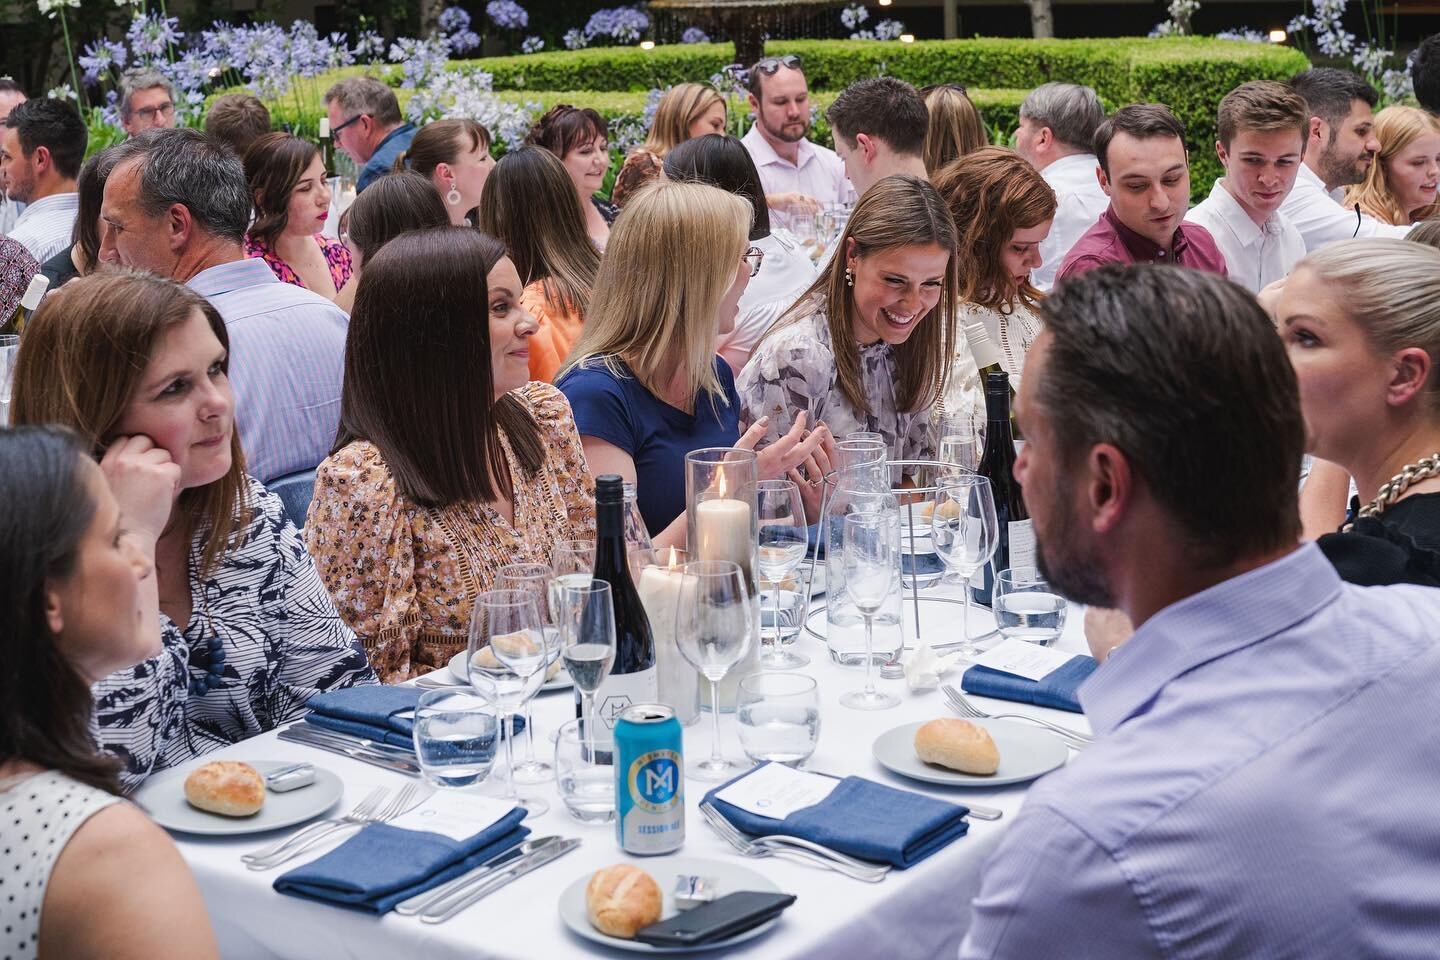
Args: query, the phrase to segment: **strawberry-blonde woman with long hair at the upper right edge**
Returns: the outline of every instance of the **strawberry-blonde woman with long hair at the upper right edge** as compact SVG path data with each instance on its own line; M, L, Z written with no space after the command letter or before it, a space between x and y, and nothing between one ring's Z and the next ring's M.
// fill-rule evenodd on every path
M1387 107L1375 114L1375 138L1380 154L1345 206L1397 226L1440 213L1440 119L1418 107Z

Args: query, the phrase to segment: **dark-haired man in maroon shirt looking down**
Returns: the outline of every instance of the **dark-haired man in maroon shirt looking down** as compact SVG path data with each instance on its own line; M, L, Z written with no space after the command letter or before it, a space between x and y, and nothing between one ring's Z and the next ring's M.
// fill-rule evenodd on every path
M1175 114L1161 104L1115 111L1094 134L1094 155L1110 206L1070 248L1057 282L1103 263L1178 263L1225 275L1210 230L1185 223L1189 155Z

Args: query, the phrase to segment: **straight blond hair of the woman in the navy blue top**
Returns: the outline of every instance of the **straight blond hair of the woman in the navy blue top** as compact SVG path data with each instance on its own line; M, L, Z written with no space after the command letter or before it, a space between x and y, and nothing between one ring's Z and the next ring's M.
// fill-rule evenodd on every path
M658 397L678 380L687 409L701 391L727 403L716 374L716 309L749 235L750 204L733 193L661 180L635 194L611 229L585 331L556 380L572 367L603 366Z

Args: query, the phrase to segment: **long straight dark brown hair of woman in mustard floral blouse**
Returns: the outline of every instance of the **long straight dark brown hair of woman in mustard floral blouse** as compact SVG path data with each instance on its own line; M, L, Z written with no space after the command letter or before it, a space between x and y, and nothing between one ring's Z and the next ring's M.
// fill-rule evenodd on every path
M544 465L534 417L514 394L494 397L485 278L504 255L500 240L446 225L402 233L360 273L336 449L370 440L425 507L508 495L501 432L527 475Z

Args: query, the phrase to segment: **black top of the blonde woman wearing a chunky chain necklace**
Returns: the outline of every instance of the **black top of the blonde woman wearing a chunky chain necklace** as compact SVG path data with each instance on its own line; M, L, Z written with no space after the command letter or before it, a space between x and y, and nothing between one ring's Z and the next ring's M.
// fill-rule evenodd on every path
M1351 514L1358 510L1355 499ZM1380 517L1356 520L1351 533L1325 534L1318 543L1349 583L1440 587L1440 494L1407 497Z

